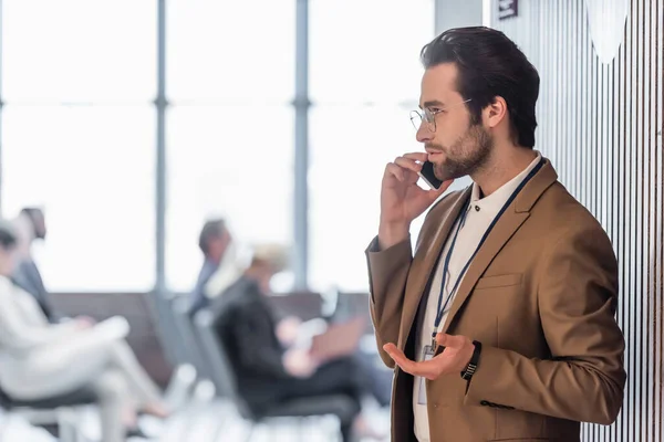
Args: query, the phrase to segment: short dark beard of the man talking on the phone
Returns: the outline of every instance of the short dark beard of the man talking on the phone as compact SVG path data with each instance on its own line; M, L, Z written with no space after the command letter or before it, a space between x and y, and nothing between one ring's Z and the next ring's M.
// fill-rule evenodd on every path
M480 124L471 124L449 148L436 145L427 147L446 154L443 162L434 164L434 175L439 180L447 181L473 175L486 166L494 147L494 138Z

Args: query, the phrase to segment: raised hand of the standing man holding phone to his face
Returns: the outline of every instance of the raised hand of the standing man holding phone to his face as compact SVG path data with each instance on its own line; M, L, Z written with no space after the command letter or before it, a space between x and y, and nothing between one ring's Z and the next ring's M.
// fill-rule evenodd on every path
M378 228L381 250L406 240L413 220L432 206L452 185L453 180L447 180L438 189L429 190L417 186L423 164L427 158L426 152L405 154L385 166L381 189L381 225ZM434 178L425 180L430 185Z

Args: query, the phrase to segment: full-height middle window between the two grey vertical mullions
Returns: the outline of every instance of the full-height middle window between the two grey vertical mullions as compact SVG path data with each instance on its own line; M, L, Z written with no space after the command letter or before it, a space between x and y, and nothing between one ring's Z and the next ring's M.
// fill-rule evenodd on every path
M167 3L166 278L189 291L198 233L224 217L240 246L292 244L295 3Z

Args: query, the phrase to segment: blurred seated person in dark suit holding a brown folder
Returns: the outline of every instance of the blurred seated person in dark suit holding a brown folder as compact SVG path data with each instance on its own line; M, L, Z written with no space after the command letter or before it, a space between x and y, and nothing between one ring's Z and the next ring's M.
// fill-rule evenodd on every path
M381 438L361 418L367 382L354 358L338 358L319 366L307 349L286 348L278 338L268 293L270 278L280 270L279 260L255 256L245 275L211 306L240 396L260 415L291 399L345 394L355 403L356 414L353 422L342 422L344 441L351 440L353 432Z

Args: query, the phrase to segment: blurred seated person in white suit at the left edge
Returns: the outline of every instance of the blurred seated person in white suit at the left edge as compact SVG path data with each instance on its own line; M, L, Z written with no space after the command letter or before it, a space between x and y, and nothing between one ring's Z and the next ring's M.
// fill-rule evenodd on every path
M102 442L124 441L138 408L166 417L157 386L124 340L126 320L49 324L35 299L9 278L15 242L12 225L0 221L0 390L20 401L92 390L101 408Z

